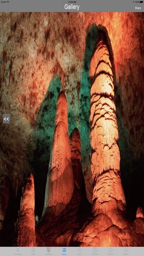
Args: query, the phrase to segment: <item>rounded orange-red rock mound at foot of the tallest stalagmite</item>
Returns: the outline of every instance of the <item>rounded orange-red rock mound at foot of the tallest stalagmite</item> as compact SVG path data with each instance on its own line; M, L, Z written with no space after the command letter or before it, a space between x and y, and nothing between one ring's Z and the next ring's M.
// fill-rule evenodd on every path
M120 218L123 227L116 226L105 214L91 217L77 233L74 241L79 246L144 246L144 219L133 223Z

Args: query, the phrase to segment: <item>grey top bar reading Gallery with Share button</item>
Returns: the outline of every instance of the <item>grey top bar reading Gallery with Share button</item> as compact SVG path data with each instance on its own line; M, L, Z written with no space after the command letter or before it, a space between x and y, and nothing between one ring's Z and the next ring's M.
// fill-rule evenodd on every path
M143 1L132 0L9 0L0 12L144 12Z

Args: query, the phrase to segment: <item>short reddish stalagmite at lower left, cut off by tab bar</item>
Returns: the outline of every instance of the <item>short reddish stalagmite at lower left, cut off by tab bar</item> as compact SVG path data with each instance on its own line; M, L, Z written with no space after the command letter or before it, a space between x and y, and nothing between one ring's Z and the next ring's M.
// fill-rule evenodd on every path
M34 218L34 180L30 173L27 176L20 203L17 221L17 246L35 246Z

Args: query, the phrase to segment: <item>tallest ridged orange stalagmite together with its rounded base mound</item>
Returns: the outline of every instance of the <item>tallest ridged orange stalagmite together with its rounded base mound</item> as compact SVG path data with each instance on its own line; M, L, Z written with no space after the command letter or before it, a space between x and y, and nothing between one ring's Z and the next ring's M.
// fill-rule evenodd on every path
M101 33L90 62L90 81L93 216L87 218L74 240L80 246L143 246L142 209L138 208L134 222L125 214L112 66Z

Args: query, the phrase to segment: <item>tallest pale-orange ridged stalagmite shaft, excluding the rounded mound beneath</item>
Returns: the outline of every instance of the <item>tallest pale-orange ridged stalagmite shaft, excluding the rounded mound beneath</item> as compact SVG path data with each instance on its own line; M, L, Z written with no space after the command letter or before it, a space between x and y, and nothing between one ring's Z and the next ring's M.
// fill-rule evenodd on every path
M114 83L108 48L103 34L90 61L90 143L93 175L92 212L103 205L123 209L125 196L120 178L118 126L114 103ZM111 201L106 205L104 202ZM104 210L106 211L106 210Z

